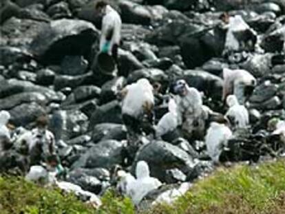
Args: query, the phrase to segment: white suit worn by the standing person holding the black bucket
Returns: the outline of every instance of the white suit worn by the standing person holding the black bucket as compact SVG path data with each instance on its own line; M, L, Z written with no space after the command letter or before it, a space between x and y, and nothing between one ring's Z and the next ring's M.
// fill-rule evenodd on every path
M120 44L120 29L122 26L122 20L120 19L120 15L118 14L118 12L116 12L116 10L114 10L111 6L107 5L105 11L106 13L102 21L100 51L103 50L103 47L106 43L106 36L109 30L112 30L113 35L108 50L108 54L111 55L113 45Z

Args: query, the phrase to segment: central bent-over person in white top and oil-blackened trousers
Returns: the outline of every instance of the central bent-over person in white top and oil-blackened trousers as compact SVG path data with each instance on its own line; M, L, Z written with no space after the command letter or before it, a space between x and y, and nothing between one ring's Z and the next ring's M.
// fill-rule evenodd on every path
M121 92L122 117L127 128L129 160L139 147L140 137L154 133L154 88L146 78L127 85Z

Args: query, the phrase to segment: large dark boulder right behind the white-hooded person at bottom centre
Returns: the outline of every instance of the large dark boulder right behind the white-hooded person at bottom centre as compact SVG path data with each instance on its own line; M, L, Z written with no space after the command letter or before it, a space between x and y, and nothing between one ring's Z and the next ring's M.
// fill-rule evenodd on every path
M195 166L193 158L186 151L164 141L154 141L143 146L132 164L132 173L140 160L145 160L149 164L151 176L162 182L167 182L165 180L167 170L179 169L187 175Z

